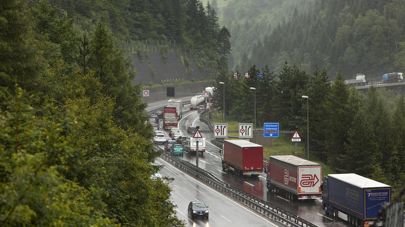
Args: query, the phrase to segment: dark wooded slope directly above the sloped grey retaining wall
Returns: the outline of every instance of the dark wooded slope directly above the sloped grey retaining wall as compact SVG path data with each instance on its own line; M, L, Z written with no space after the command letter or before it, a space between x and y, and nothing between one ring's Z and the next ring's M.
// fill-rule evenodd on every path
M227 67L230 36L217 14L200 0L49 0L90 33L107 24L119 40L176 40ZM225 43L225 44L224 44Z

